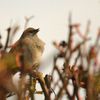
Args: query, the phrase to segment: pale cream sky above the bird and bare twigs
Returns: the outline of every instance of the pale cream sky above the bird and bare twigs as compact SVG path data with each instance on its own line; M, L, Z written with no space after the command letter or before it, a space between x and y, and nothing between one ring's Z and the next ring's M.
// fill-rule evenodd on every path
M21 25L21 34L24 25L24 16L34 16L29 26L40 28L39 35L45 41L45 52L43 59L47 59L54 47L51 45L53 40L66 39L68 14L72 11L73 23L81 23L81 30L84 33L88 20L91 20L90 34L95 36L100 27L100 0L0 0L0 33L5 40L5 29L18 22ZM18 38L19 35L16 37ZM49 66L53 55L49 57ZM44 70L43 70L44 71ZM44 71L49 73L50 70Z

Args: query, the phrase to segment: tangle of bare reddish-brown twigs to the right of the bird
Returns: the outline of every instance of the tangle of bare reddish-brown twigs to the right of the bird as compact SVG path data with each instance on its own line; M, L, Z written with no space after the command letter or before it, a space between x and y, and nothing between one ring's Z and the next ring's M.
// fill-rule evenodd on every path
M52 79L54 91L58 88L55 100L61 100L66 96L69 100L99 100L100 99L100 29L94 44L88 42L92 38L88 37L90 21L87 23L86 33L83 35L80 31L80 24L72 24L69 17L69 36L67 41L60 43L54 42L54 46L59 50L58 55L54 57L54 67L51 76L54 78L55 72L58 80ZM76 33L81 38L80 43L76 43L74 37ZM57 61L64 60L63 66L57 65ZM71 81L71 83L69 83ZM59 84L61 83L61 84ZM68 90L68 85L73 86L73 93ZM84 88L86 96L81 98L80 88Z

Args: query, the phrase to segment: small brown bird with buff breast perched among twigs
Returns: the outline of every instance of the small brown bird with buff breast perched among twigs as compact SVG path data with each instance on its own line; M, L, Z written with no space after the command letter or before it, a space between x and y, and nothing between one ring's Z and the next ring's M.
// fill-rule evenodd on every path
M23 56L24 69L37 68L44 50L44 42L37 36L39 29L26 29L21 38L10 50L15 56L20 53Z

